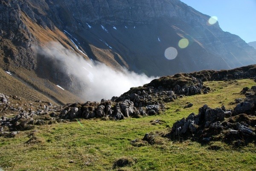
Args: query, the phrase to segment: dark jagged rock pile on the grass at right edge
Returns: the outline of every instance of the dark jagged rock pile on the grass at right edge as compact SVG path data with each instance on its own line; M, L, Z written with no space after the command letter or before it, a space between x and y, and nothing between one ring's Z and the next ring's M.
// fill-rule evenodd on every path
M246 98L236 99L239 104L233 110L224 106L211 109L207 105L199 108L198 115L191 113L173 124L166 135L172 140L192 139L201 143L223 140L236 146L256 142L256 87L245 87L241 93Z

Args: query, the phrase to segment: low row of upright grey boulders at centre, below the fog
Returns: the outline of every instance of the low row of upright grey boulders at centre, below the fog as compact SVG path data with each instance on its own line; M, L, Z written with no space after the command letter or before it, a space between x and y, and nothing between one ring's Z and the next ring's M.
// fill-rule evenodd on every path
M134 102L128 99L115 103L113 101L87 102L85 104L69 104L60 112L59 118L73 120L75 118L112 118L116 120L125 117L140 117L159 114L164 109L163 104L135 107Z

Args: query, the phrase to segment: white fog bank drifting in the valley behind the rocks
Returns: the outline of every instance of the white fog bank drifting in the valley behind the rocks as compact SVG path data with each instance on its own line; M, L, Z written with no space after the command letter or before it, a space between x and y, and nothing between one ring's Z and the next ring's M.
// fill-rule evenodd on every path
M87 101L111 99L127 92L131 87L143 86L155 78L127 69L116 71L100 62L87 61L74 50L68 50L56 42L50 43L47 48L38 48L38 52L55 61L53 63L58 64L55 67L61 69L61 72L76 77L73 80L78 80L79 84L84 85L81 95Z

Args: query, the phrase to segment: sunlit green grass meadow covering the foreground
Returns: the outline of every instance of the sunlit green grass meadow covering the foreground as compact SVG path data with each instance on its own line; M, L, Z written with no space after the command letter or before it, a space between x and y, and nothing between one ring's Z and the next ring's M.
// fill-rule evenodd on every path
M233 108L235 98L244 98L239 92L243 87L255 85L253 80L205 83L215 91L206 95L179 98L166 104L162 115L143 118L127 118L122 121L100 119L71 123L37 126L35 136L44 141L26 144L32 131L20 132L15 138L0 137L0 167L4 170L111 170L116 159L130 157L136 161L124 170L256 170L255 144L234 148L222 142L202 146L190 140L183 143L160 138L154 145L135 147L131 140L142 139L145 133L168 132L168 126L198 113L204 104L209 107ZM237 85L236 85L237 84ZM193 107L183 109L186 102ZM175 112L180 109L179 112ZM166 123L152 125L150 121L161 119ZM211 150L219 146L219 150ZM74 163L69 163L73 160Z

